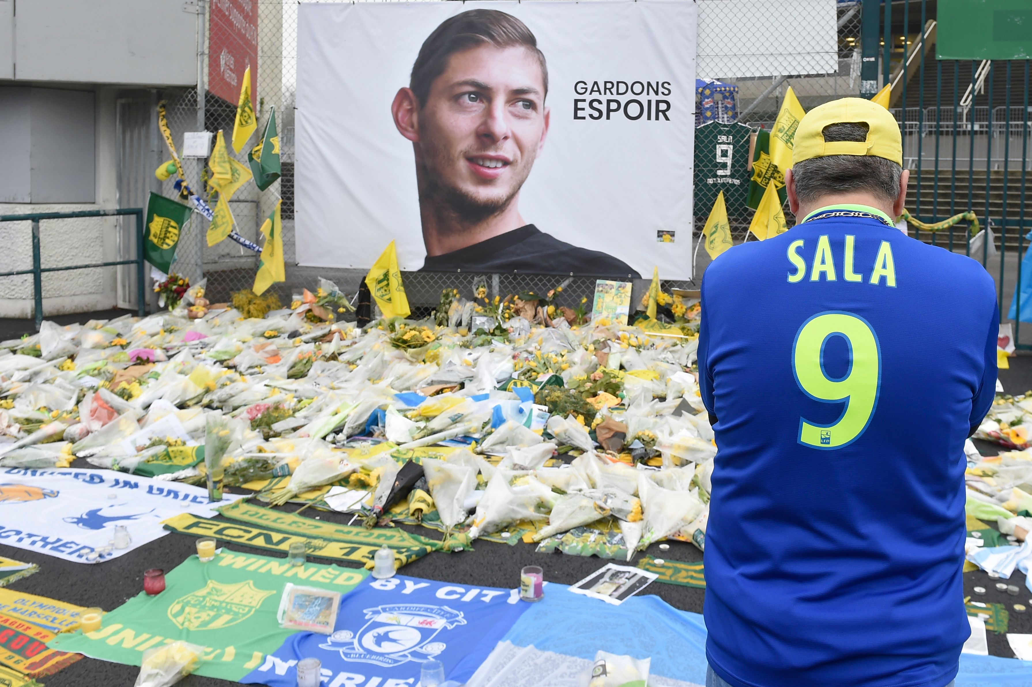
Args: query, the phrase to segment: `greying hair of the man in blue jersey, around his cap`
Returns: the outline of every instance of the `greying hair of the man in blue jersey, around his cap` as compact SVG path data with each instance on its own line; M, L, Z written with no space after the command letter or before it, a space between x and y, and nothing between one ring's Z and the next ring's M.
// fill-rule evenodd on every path
M825 127L825 141L866 141L867 124L842 122ZM900 193L903 168L892 160L872 155L829 155L796 163L796 195L811 203L824 195L849 191L870 191L883 200L895 201Z

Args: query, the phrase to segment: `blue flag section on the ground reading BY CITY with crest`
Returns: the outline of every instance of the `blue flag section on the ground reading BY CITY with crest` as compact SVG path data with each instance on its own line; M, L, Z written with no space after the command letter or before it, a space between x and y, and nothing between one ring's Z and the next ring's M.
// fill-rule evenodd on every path
M465 682L530 606L512 592L369 578L341 600L330 636L291 635L240 682L296 687L297 661L308 657L322 663L324 687L414 687L431 658L449 680Z

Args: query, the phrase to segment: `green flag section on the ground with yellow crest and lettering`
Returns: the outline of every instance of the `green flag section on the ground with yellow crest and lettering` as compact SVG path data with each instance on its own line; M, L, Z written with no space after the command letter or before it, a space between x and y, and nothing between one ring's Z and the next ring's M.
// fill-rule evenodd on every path
M190 556L165 576L165 591L157 596L140 592L104 614L99 630L63 632L51 640L52 648L139 665L151 647L183 640L205 647L197 675L237 682L294 633L276 618L288 582L347 593L367 575L225 549L207 563Z

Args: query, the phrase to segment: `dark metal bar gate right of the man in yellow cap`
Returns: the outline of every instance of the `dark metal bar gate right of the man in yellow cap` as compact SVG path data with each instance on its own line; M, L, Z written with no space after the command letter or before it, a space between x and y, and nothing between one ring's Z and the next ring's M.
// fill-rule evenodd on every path
M917 236L973 253L996 281L1001 322L1014 319L1015 345L1032 350L1021 343L1013 317L1021 312L1021 257L1032 228L1025 209L1029 61L935 59L936 5L908 0L882 7L881 75L893 84L891 111L911 170L907 208L926 223L964 211L977 216L983 234L974 240L964 224Z

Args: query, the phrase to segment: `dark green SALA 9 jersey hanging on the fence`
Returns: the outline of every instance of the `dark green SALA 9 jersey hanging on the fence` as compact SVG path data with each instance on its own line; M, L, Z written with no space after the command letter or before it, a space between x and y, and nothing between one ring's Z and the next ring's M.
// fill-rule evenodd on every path
M723 191L728 215L745 215L749 133L744 124L710 122L696 129L695 206L705 212Z

